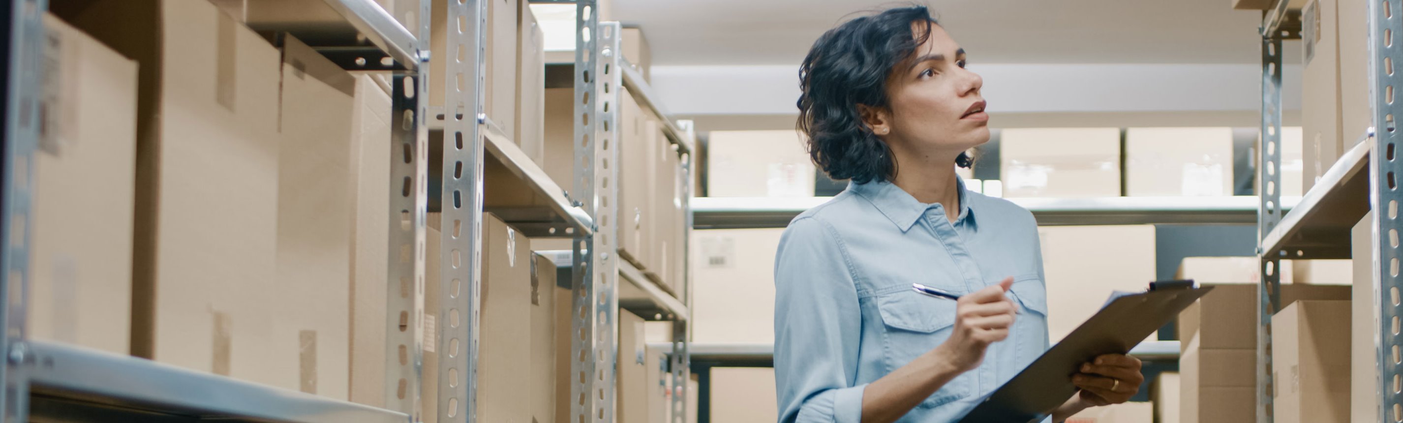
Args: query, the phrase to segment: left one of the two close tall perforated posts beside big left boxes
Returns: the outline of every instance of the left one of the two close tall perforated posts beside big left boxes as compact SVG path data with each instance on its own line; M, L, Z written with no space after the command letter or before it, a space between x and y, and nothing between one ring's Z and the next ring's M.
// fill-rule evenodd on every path
M431 0L397 1L394 15L415 25L419 63L396 70L390 98L390 245L386 277L384 405L422 422L424 240L428 210L428 49ZM414 20L411 17L419 17ZM405 66L408 69L408 66ZM412 289L411 289L412 287Z

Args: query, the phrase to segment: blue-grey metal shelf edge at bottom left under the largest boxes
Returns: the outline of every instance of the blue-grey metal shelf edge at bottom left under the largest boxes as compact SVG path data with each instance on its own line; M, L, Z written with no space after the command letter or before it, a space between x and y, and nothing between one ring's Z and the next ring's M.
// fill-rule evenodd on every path
M29 342L31 384L49 395L128 408L306 423L407 423L410 416L304 392L239 381L145 359ZM73 396L69 396L73 395Z

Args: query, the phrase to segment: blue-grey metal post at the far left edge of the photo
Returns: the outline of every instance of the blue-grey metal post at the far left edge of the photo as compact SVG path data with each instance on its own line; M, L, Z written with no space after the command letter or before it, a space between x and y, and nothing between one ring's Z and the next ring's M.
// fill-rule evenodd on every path
M6 87L4 148L0 150L0 367L4 399L0 422L28 419L29 382L25 378L25 298L29 282L29 202L34 195L34 150L39 143L39 81L43 71L45 0L11 0L4 8Z

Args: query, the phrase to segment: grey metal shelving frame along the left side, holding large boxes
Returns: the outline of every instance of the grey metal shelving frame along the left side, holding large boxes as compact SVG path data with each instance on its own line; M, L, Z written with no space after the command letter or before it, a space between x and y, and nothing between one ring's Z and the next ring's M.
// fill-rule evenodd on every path
M370 408L316 395L264 387L253 382L210 375L198 371L133 359L90 352L81 347L31 342L24 333L25 287L28 279L27 245L34 150L38 143L38 84L43 73L43 28L41 15L48 10L45 0L7 1L6 31L6 125L3 197L0 221L8 242L0 242L0 325L7 328L0 340L6 366L0 367L0 384L6 395L0 415L6 422L22 422L32 410L43 416L74 422L109 422L142 419L152 422L185 422L191 417L257 422L421 422L424 413L435 413L441 422L476 422L476 375L481 318L481 224L483 167L485 160L497 160L542 199L533 210L504 213L508 221L532 237L574 238L574 249L557 254L574 269L572 290L572 357L571 410L578 422L612 422L615 394L615 363L617 356L615 312L619 307L672 319L676 324L672 347L687 349L686 293L671 296L629 263L616 259L613 245L617 238L617 210L610 206L617 196L619 153L609 148L617 127L612 104L619 101L615 87L629 87L640 97L640 104L658 116L669 116L655 101L647 83L620 57L617 22L599 22L593 0L546 0L537 3L575 4L575 176L565 183L567 192L551 181L512 140L502 134L491 116L484 113L485 60L485 1L446 1L448 22L457 22L457 31L446 31L446 49L463 52L443 66L448 105L429 109L425 95L429 90L429 36L432 34L434 1L400 0L396 10L386 11L373 0L288 0L302 17L278 17L262 21L255 29L285 31L300 39L313 41L317 50L348 70L384 70L393 74L391 113L404 116L403 125L393 125L390 181L391 221L389 275L386 280L410 282L411 296L400 294L400 284L391 283L386 296L386 408ZM418 18L414 18L418 17ZM414 27L405 28L403 22ZM459 87L459 84L463 84ZM600 123L602 122L602 123ZM666 120L665 133L676 144L682 158L679 175L690 181L690 154L694 133L690 122ZM429 192L429 132L443 133L442 190ZM403 148L400 148L403 146ZM438 147L438 146L432 146ZM403 151L403 154L400 154ZM598 172L596 172L598 169ZM401 183L403 181L403 183ZM563 181L561 181L563 182ZM690 189L690 183L686 185ZM690 192L683 193L689 199ZM443 280L462 280L457 290L443 283L441 310L425 310L424 277L427 217L431 199L442 199L441 227L445 233L441 251L463 261L445 259ZM683 200L683 207L689 207ZM690 214L687 214L690 227ZM462 230L456 230L462 228ZM685 251L682 252L685 254ZM408 261L401 261L401 255ZM623 276L630 283L619 286ZM689 283L683 282L683 286ZM462 294L460 294L462 293ZM425 317L436 315L435 333L427 332ZM401 319L404 322L401 324ZM419 392L425 340L448 346L441 353L439 387ZM673 409L679 422L685 416L687 378L686 354L673 357L672 377L676 387ZM591 375L591 377L586 377ZM32 395L31 395L32 391ZM438 409L424 410L421 398L436 395ZM589 401L584 401L589 398ZM564 406L564 405L561 405ZM586 420L585 416L589 416Z

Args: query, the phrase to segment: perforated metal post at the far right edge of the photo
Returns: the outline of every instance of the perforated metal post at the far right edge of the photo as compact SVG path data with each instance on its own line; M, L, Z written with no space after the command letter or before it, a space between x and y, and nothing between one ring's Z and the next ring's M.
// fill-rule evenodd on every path
M1369 97L1374 101L1374 151L1369 154L1369 206L1374 210L1374 297L1379 305L1374 321L1378 336L1375 360L1378 371L1379 415L1375 422L1403 420L1403 356L1399 353L1403 338L1399 336L1400 294L1403 280L1399 279L1399 175L1403 162L1397 158L1397 144L1403 141L1397 132L1395 116L1403 116L1403 106L1393 101L1393 91L1403 85L1403 78L1395 74L1393 63L1403 60L1403 52L1396 45L1397 32L1403 32L1403 1L1385 0L1369 3L1369 76L1374 87Z

